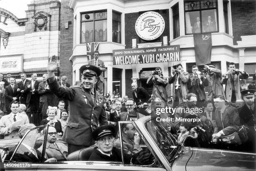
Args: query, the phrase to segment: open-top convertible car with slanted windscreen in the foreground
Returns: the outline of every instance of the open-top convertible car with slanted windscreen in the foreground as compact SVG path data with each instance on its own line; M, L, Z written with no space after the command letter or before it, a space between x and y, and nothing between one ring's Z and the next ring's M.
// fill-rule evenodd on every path
M153 124L154 123L154 124ZM106 161L88 161L93 147L88 147L69 154L67 161L57 161L54 163L44 163L44 154L47 134L43 134L34 139L34 148L43 147L41 161L39 162L18 162L17 157L20 154L20 144L31 142L31 132L35 129L42 129L45 126L39 126L28 131L19 142L8 144L0 141L4 147L13 148L10 158L5 160L3 165L5 170L140 170L140 171L255 171L256 154L242 153L237 151L224 151L217 149L202 149L180 146L177 140L169 133L167 128L161 122L155 122L150 116L145 116L137 121L119 122L119 128L122 124L133 124L138 132L142 151L148 151L150 160L138 165L124 164L123 155L124 143L123 132L119 129L120 147L122 153L122 162ZM47 129L48 130L48 129ZM39 132L39 131L38 131ZM18 144L17 144L18 143ZM3 145L5 144L5 145ZM16 165L15 165L16 164ZM25 164L25 165L20 165ZM29 166L28 166L29 165Z

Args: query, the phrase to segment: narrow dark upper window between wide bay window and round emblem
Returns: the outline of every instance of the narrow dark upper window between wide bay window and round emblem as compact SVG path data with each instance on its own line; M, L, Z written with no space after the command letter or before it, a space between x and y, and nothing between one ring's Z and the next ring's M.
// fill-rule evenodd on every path
M121 43L121 14L112 12L112 42Z

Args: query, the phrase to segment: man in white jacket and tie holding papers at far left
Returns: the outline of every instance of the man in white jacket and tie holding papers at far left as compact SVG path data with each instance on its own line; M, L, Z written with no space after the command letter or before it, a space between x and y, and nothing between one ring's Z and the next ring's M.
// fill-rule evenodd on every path
M11 103L10 109L12 112L0 119L0 135L4 135L5 139L18 138L18 130L20 129L20 126L29 123L28 116L18 112L19 103L17 101L13 101ZM13 122L19 120L23 120L22 124L14 127L13 131L10 131L10 128L13 126Z

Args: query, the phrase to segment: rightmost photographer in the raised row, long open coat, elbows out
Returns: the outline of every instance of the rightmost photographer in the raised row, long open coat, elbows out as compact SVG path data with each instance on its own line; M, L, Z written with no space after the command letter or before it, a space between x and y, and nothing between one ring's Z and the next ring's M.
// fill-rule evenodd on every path
M249 74L236 69L235 63L230 62L228 64L228 72L223 74L220 81L221 84L226 84L225 95L228 101L232 103L236 102L236 99L241 99L240 92L240 79L247 79Z

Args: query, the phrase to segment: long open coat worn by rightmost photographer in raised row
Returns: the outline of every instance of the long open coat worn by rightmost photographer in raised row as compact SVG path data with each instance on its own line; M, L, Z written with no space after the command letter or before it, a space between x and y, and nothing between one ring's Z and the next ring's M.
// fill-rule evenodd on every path
M233 77L233 78L232 78ZM247 79L249 77L249 74L246 72L242 72L242 74L239 72L239 74L228 74L228 78L226 78L224 75L220 81L221 84L226 84L225 86L225 95L226 99L228 101L231 101L232 96L232 82L234 82L234 90L236 94L236 99L242 99L241 90L240 90L240 79Z

